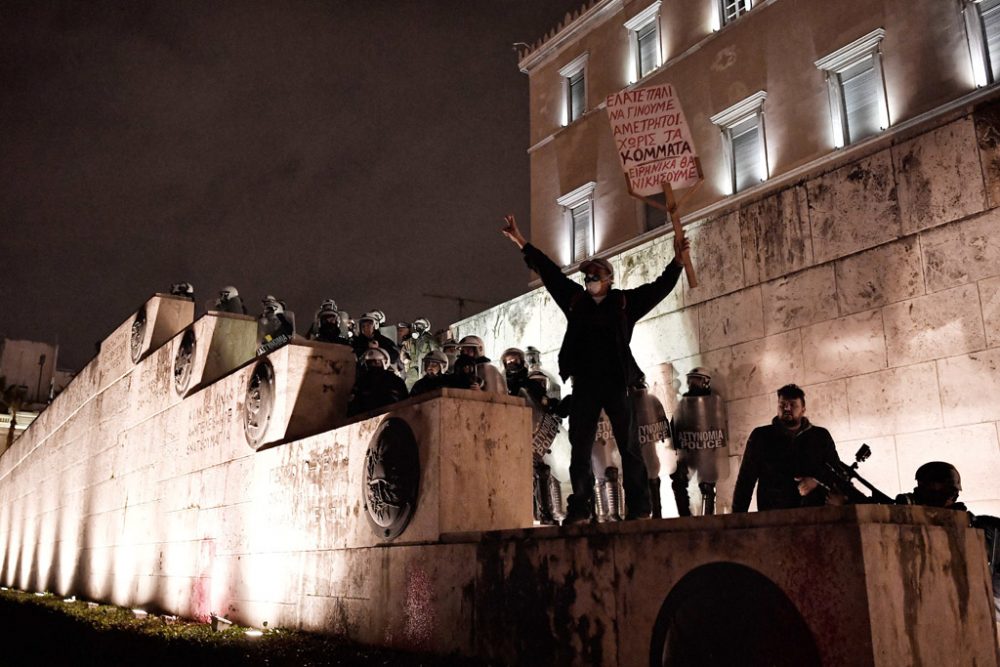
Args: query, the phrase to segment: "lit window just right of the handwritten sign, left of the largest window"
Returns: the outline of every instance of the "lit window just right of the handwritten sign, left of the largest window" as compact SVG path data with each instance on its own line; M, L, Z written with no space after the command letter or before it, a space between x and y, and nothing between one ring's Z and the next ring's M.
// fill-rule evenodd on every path
M729 185L739 192L767 180L767 142L764 139L763 90L712 116L722 130Z

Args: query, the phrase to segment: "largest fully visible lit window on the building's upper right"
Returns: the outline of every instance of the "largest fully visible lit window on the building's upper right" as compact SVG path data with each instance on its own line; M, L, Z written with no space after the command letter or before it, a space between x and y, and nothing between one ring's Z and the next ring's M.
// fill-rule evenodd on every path
M889 127L882 78L879 28L825 58L816 67L826 73L833 120L833 143L840 148Z

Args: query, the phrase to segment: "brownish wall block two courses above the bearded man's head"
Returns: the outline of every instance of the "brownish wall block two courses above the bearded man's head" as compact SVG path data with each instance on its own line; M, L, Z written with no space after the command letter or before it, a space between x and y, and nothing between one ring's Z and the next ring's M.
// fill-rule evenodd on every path
M830 320L838 314L832 264L763 283L760 289L768 335Z

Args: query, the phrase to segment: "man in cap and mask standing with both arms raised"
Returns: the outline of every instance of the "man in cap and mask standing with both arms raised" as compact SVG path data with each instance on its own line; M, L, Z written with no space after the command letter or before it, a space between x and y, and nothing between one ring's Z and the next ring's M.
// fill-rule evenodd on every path
M584 262L586 288L570 280L545 253L521 234L508 215L504 236L524 253L528 267L539 275L553 300L566 315L566 335L559 350L559 375L573 378L573 405L569 414L571 446L569 474L573 494L566 522L592 517L594 474L590 454L601 410L608 415L622 459L626 519L649 516L646 466L639 450L639 434L628 391L642 378L629 343L635 323L662 301L677 284L681 264L674 257L651 283L629 290L612 289L614 271L605 259ZM679 256L687 240L674 242Z

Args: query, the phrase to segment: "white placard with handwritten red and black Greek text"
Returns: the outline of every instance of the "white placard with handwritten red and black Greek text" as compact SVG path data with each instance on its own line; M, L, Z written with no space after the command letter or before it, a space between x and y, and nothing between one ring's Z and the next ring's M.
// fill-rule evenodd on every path
M698 181L694 142L673 86L623 90L608 96L608 119L632 191L648 196L662 184L679 190Z

